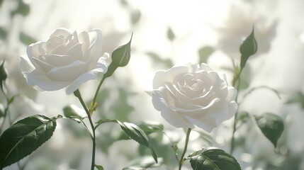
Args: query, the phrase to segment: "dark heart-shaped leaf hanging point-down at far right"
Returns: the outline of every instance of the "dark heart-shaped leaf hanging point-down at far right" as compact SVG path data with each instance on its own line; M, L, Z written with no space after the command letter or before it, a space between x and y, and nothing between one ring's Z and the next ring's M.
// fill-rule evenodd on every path
M265 137L276 147L278 138L284 130L284 123L281 117L273 113L264 113L263 115L255 116L255 120L261 132L263 132Z

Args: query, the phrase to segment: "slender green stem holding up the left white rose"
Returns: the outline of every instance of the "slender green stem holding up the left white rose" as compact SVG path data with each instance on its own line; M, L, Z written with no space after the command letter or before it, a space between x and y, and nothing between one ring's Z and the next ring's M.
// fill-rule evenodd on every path
M89 122L90 122L90 125L91 125L91 129L92 129L92 133L93 133L93 137L92 137L93 146L92 146L91 170L94 170L94 166L95 166L95 149L96 149L96 136L95 136L94 124L93 124L93 121L91 119L91 115L90 115L89 109L86 107L86 104L84 103L84 100L81 97L79 89L77 89L77 91L74 91L74 95L79 99L81 105L84 107L84 110L86 111L86 114L88 115Z

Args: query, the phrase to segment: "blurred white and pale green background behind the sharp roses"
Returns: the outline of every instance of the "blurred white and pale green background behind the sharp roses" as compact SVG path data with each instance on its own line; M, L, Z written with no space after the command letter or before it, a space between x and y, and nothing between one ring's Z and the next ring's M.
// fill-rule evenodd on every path
M206 62L231 82L233 63L240 62L240 44L254 27L259 49L242 74L240 112L275 113L283 119L285 129L274 148L251 117L244 119L233 155L244 170L304 169L303 8L302 0L1 0L0 64L5 59L8 96L21 94L9 107L11 120L35 114L52 117L63 114L62 108L69 104L81 106L64 90L35 91L26 84L18 68L27 45L47 40L57 28L78 33L99 28L103 30L103 52L111 53L133 33L131 60L103 84L93 118L161 123L171 140L180 141L182 147L184 130L166 123L145 93L152 89L154 73L175 64ZM97 84L94 80L81 86L87 103ZM244 98L250 89L260 86L275 89L281 99L269 89L257 89ZM0 108L5 106L0 93ZM8 127L9 123L4 124ZM97 135L96 164L105 169L122 169L131 160L150 155L137 142L117 140L117 125L101 125ZM197 129L187 153L206 146L228 152L231 135L232 119L210 134ZM176 169L168 138L154 134L150 140L164 162L155 169ZM13 164L5 169L88 169L90 162L91 140L84 128L71 120L58 120L54 136L45 145L22 159L20 167ZM184 168L190 169L187 164Z

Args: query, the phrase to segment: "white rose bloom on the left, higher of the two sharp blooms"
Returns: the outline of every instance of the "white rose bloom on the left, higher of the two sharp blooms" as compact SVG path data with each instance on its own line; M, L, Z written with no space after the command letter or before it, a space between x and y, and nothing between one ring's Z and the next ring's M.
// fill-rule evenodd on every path
M21 56L21 72L28 85L37 90L67 87L66 93L71 94L84 82L107 72L108 53L102 57L101 41L98 29L79 34L57 29L46 42L28 46L27 55Z

